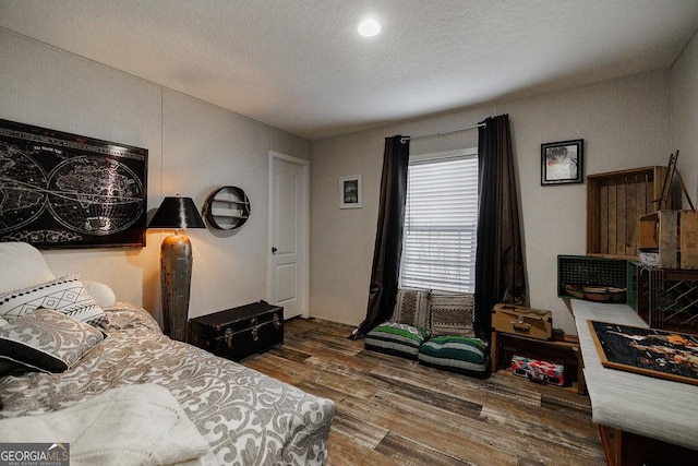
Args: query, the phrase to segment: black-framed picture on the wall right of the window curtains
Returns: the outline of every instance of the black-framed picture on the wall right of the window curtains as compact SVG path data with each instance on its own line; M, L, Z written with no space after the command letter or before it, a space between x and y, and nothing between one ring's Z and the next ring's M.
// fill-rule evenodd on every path
M585 140L541 144L541 184L583 181Z

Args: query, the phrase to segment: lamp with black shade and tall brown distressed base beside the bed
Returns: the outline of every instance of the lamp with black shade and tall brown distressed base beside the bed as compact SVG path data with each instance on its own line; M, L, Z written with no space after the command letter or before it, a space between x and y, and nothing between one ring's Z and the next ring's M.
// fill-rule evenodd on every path
M189 291L192 283L192 243L184 228L206 228L191 198L163 200L148 228L174 228L163 240L160 283L163 287L163 332L172 339L186 340Z

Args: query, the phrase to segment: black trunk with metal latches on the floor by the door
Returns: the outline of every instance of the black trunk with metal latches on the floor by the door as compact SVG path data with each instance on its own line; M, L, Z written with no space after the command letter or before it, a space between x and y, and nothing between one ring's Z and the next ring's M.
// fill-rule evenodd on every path
M189 321L189 343L239 361L284 344L284 308L265 301Z

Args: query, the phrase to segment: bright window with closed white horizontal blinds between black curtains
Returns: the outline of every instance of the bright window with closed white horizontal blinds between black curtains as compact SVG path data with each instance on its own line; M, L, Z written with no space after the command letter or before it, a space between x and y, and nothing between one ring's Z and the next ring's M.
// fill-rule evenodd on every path
M400 287L474 292L477 148L410 157Z

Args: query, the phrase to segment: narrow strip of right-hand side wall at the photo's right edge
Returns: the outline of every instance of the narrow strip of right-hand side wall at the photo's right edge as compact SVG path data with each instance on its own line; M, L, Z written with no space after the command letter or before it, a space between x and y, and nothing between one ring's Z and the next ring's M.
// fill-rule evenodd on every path
M671 95L671 150L681 151L678 170L698 205L698 34L672 67Z

